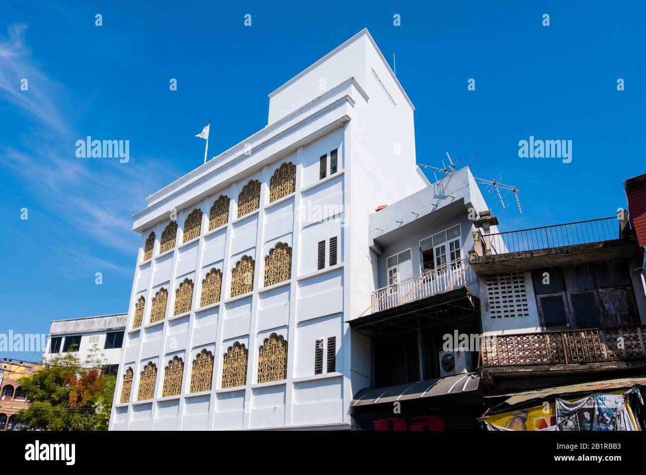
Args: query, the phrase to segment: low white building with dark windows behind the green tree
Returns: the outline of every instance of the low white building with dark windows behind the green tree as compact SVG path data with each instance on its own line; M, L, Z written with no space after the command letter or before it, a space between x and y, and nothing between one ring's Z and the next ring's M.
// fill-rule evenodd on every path
M127 313L114 313L52 321L43 361L65 352L74 352L83 363L87 361L89 351L96 346L102 354L99 356L105 370L117 374L127 317Z

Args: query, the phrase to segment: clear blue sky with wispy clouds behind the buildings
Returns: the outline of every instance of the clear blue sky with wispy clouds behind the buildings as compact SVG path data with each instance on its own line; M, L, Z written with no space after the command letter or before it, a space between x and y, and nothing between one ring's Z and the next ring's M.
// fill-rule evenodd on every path
M202 163L194 134L211 118L211 157L262 129L267 94L364 27L396 52L417 162L477 151L476 176L521 190L522 216L494 208L503 230L614 215L646 171L646 8L563 3L3 2L0 333L127 311L131 216ZM77 158L87 135L129 140L130 161ZM572 162L519 158L530 135L572 140Z

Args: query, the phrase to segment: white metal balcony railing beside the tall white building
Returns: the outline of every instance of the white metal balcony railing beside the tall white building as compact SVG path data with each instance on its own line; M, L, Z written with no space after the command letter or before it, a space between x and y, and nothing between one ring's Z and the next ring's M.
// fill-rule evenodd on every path
M461 260L415 275L371 292L372 313L414 302L476 282L474 271ZM365 312L364 312L365 313Z

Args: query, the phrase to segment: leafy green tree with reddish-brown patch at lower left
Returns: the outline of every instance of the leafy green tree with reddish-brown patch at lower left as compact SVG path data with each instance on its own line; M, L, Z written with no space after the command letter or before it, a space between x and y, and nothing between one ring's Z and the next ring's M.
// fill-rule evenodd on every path
M16 414L26 429L107 430L116 378L103 374L96 344L81 363L74 353L57 355L21 379L29 407Z

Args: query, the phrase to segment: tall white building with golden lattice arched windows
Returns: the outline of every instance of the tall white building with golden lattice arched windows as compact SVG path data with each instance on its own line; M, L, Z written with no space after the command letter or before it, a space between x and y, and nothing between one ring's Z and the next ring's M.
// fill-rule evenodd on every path
M368 216L428 185L413 110L362 30L269 94L264 129L147 198L111 430L349 428Z

